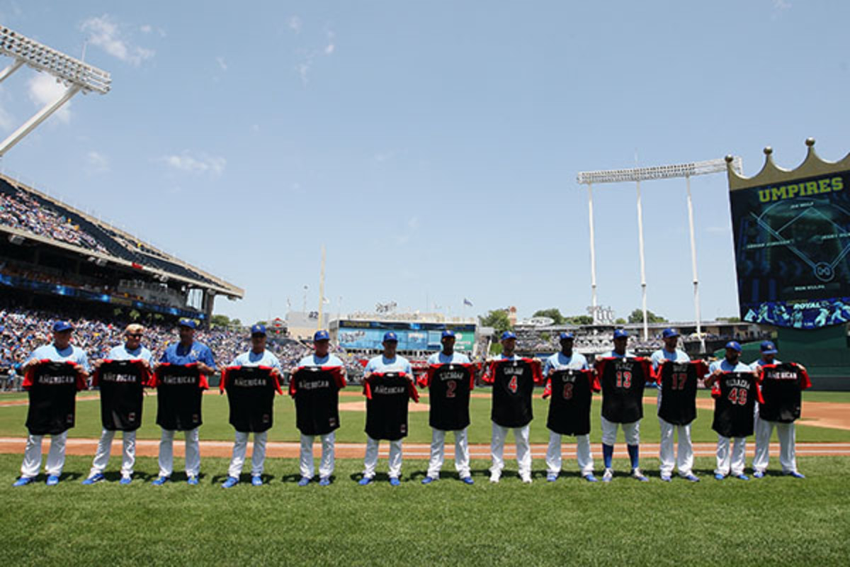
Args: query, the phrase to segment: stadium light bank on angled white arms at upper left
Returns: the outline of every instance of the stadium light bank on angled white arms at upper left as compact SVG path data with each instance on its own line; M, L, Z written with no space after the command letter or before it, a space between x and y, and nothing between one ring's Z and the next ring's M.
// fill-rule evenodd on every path
M44 105L42 110L37 111L20 128L11 133L7 139L4 139L3 143L0 143L0 157L24 139L39 124L47 120L48 116L58 111L75 94L80 91L83 94L92 91L106 94L111 88L112 79L106 71L101 71L97 67L83 63L70 55L48 48L48 46L22 36L5 26L0 26L0 54L8 55L8 57L14 59L11 65L0 71L0 82L6 80L22 66L29 65L36 71L48 72L66 88L65 93L59 99Z

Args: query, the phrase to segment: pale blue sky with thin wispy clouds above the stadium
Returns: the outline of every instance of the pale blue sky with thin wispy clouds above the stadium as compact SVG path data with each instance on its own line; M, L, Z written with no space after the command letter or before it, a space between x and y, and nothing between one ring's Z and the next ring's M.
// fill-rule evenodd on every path
M580 171L837 160L846 2L0 1L0 24L113 80L3 171L232 281L244 321L590 303ZM4 58L5 59L5 58ZM5 63L5 61L4 61ZM6 135L54 95L0 86ZM692 181L705 318L737 315L724 174ZM649 309L693 319L683 180L642 184ZM640 305L634 184L594 190L599 303ZM429 305L427 305L427 303Z

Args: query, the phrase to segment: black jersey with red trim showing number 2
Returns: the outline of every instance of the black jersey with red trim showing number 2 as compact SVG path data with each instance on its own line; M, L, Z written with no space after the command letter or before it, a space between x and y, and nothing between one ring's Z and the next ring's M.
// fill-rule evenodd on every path
M474 388L472 364L433 364L419 381L428 388L428 424L458 431L469 425L469 394Z

